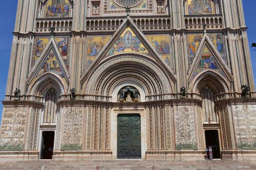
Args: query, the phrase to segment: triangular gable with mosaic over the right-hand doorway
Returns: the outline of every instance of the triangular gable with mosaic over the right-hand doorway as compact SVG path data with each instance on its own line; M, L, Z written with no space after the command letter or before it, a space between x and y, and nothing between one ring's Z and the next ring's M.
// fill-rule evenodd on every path
M232 75L227 65L221 58L214 44L205 34L198 47L196 57L188 73L189 81L205 70L218 72L220 75L232 80Z

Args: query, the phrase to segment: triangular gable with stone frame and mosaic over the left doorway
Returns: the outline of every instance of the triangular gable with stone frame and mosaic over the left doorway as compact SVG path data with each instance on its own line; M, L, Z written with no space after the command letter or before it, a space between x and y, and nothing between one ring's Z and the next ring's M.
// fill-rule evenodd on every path
M54 38L50 39L44 52L30 72L27 82L30 84L35 78L40 77L46 72L52 72L60 76L66 83L69 83L69 74L59 54Z

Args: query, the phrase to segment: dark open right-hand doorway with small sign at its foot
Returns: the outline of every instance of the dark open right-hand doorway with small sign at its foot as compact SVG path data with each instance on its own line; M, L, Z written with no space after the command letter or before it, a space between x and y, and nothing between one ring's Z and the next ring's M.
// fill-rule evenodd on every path
M206 148L209 151L209 147L212 148L212 157L214 159L220 159L220 143L219 143L219 133L218 130L206 130L205 131L205 142ZM207 152L207 156L209 159L209 152Z

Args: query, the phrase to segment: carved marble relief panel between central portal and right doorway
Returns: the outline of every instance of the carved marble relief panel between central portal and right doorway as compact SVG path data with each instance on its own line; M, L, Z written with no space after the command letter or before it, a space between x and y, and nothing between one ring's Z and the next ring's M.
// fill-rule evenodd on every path
M176 107L176 150L197 149L193 107L194 106Z

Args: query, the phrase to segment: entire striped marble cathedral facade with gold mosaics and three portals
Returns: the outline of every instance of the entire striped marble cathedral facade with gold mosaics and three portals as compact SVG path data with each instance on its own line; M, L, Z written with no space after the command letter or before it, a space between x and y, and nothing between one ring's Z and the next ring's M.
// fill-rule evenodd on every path
M256 159L242 0L18 0L2 160Z

